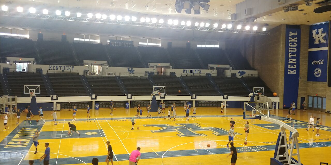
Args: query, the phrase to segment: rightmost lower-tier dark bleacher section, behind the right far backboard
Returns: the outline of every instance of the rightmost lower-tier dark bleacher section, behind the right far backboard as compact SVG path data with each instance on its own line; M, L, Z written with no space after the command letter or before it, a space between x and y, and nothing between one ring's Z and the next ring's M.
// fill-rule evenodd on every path
M260 77L242 77L247 86L253 91L254 87L264 87L264 94L267 97L274 97L271 89L266 85Z

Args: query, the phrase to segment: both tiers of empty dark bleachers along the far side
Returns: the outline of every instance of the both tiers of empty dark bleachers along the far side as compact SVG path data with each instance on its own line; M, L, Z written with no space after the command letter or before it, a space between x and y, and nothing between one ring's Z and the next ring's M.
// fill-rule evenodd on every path
M173 69L206 69L208 64L231 65L233 69L254 70L238 50L221 49L164 49L155 47L121 48L101 44L32 41L0 37L1 62L6 57L35 58L37 64L83 65L83 60L108 61L113 67L147 67L148 63L170 63ZM129 60L128 60L129 59ZM230 64L229 61L232 61ZM236 61L236 62L233 62ZM238 66L236 66L238 65ZM248 96L253 87L264 87L264 95L272 91L258 78L165 76L106 77L82 76L74 73L0 74L0 95L29 97L23 85L41 85L41 96L116 96L150 95L152 86L166 86L168 95ZM219 89L219 90L217 90ZM179 93L178 90L181 90Z

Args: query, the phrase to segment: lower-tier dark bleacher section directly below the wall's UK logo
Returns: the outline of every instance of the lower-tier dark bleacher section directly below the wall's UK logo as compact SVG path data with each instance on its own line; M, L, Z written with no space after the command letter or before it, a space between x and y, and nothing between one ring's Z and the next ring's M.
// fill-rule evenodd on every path
M147 77L121 77L121 80L131 95L151 95L153 86Z

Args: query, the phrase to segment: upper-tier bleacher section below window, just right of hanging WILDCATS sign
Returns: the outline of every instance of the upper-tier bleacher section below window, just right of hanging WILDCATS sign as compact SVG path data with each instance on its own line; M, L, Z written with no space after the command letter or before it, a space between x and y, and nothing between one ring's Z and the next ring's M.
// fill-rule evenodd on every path
M160 47L138 47L146 66L148 63L170 63L166 49Z

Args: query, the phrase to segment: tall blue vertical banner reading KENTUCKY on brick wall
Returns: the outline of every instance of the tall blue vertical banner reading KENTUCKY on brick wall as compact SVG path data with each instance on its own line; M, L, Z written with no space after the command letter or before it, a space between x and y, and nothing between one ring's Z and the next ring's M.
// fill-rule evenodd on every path
M284 97L285 107L290 107L292 101L297 102L300 79L300 43L301 29L286 28Z

